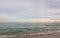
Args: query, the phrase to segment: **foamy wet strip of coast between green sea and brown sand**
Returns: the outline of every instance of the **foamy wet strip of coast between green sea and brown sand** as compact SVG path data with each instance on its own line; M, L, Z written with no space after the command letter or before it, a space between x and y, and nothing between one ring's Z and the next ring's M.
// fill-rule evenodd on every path
M22 34L22 35L0 35L0 38L13 38L13 37L28 37L28 36L43 36L53 34L55 32L60 31L48 31L48 32L38 32L38 33L30 33L30 34Z

